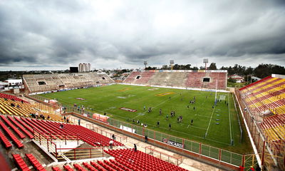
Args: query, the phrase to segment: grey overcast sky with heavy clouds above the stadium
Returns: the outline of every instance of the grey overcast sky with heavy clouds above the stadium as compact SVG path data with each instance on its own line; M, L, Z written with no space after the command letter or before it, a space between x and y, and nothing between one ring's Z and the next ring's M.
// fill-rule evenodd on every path
M0 70L285 66L285 1L1 0Z

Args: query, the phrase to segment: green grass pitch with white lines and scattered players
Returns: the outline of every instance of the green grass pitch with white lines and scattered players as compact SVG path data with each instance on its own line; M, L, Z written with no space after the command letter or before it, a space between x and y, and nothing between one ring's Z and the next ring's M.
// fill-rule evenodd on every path
M86 108L92 108L93 113L105 112L111 118L128 123L140 120L140 123L146 123L147 128L152 130L214 147L239 153L252 151L247 140L240 142L238 115L231 93L217 93L217 99L221 101L215 106L213 92L144 86L112 85L48 93L41 96L56 98L63 105L73 106L73 103L84 105ZM194 97L195 104L190 104L190 100ZM144 110L144 106L146 109L151 107L152 112L148 113ZM133 113L120 108L137 111ZM160 115L160 109L162 109L162 115ZM172 110L175 110L175 117L170 117ZM166 115L169 116L168 120ZM183 117L182 123L177 123L179 115ZM194 121L193 125L190 124L191 120ZM160 128L157 128L157 121L160 121ZM169 124L172 125L172 130L168 128ZM232 140L233 145L231 145Z

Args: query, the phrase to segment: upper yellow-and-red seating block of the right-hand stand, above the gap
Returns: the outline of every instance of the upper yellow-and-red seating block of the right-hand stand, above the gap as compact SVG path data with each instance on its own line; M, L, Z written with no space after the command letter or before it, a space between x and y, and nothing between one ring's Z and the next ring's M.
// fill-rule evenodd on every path
M285 113L285 79L266 77L240 89L252 111Z

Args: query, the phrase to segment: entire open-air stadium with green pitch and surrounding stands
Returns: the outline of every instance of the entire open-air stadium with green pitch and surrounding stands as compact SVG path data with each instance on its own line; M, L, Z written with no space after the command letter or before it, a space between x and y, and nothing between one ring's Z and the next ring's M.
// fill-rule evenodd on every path
M219 70L133 71L121 83L106 73L28 74L23 83L18 97L0 98L10 167L189 170L184 157L224 170L284 166L281 75L239 89Z

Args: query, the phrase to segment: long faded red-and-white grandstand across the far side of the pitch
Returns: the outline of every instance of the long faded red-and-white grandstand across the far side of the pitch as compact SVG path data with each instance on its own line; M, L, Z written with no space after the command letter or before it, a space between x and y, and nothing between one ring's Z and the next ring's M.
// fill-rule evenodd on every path
M225 90L227 88L227 71L133 71L123 83Z

